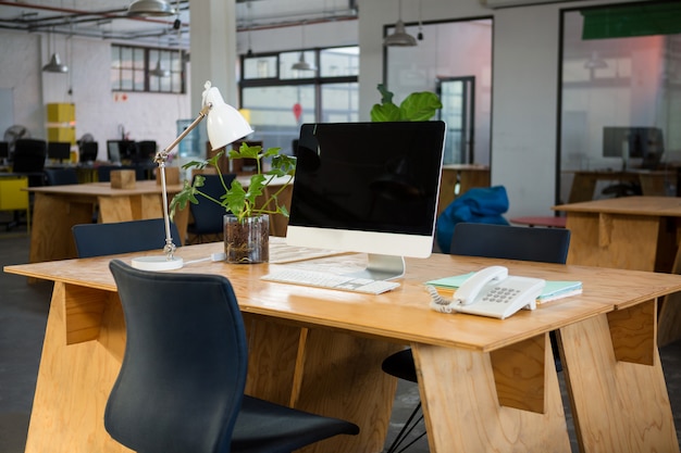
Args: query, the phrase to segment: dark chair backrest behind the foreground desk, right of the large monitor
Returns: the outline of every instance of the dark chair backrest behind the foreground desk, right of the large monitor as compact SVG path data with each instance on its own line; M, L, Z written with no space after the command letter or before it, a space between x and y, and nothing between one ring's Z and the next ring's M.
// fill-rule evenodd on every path
M565 264L570 230L460 223L454 228L454 255Z

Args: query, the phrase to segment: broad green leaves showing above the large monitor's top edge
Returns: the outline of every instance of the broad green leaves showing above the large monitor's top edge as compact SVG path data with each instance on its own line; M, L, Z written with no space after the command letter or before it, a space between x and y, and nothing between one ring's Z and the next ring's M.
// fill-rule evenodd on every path
M371 121L375 123L389 121L429 121L442 109L437 95L431 91L412 92L397 105L393 102L393 92L383 84L379 84L381 103L371 108Z

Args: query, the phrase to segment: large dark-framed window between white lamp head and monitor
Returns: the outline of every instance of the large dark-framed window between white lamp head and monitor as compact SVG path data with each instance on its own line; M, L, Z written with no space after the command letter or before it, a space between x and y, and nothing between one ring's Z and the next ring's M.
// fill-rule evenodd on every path
M305 61L311 70L295 70ZM242 56L242 108L255 140L293 154L302 123L356 122L359 48L305 49Z

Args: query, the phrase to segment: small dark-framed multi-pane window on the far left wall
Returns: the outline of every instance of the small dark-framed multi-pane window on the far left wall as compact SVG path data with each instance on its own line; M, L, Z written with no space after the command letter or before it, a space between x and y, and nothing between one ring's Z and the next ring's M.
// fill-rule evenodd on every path
M111 90L185 92L184 50L111 46Z

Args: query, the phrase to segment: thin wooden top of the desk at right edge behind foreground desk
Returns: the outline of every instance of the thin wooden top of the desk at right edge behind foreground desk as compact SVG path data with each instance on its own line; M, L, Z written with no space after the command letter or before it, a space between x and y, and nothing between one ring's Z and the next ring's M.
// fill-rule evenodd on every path
M677 197L621 197L606 200L559 204L554 211L590 212L606 214L664 215L681 217L681 198Z

